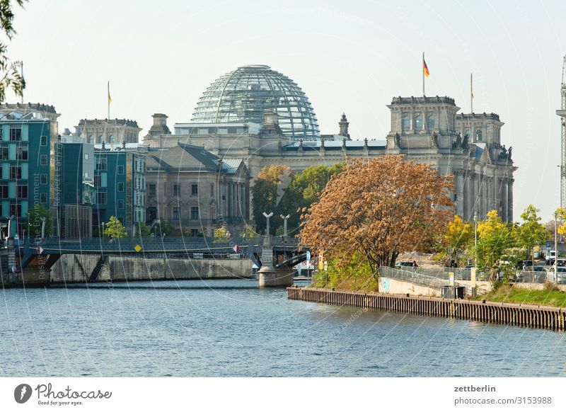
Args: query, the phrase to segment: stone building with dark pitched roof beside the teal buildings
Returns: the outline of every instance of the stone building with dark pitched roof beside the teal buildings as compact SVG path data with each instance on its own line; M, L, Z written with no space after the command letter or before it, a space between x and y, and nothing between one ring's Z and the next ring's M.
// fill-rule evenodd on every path
M186 234L239 234L250 216L250 175L241 159L220 159L179 142L150 149L146 158L147 222L166 222Z

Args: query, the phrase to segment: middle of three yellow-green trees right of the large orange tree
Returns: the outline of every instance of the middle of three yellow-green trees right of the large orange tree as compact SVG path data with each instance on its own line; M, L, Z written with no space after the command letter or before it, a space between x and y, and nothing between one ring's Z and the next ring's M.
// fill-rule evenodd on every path
M509 249L515 246L512 227L502 222L497 210L487 213L487 219L478 222L478 246L473 250L478 269L495 279L501 271L506 279L512 275L512 263L505 261Z

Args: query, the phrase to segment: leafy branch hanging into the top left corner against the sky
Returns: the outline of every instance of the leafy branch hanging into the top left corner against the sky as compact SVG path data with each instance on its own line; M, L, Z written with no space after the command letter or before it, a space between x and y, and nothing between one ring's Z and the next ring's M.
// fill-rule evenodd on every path
M16 30L13 28L13 4L23 7L27 0L0 0L0 29L4 32L8 40L13 38ZM12 62L8 59L6 52L8 45L0 42L0 101L6 98L6 91L11 88L16 96L22 96L25 88L25 81L20 74L21 62Z

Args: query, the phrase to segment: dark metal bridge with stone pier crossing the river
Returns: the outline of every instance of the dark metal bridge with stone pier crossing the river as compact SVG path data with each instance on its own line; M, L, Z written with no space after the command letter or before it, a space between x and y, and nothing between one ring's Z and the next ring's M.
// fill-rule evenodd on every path
M274 241L275 240L275 241ZM2 271L24 274L50 272L62 255L96 255L98 263L88 277L98 280L100 269L108 256L144 256L156 258L221 258L238 254L249 258L259 270L259 285L284 286L292 284L293 267L306 261L308 248L299 247L298 239L264 237L230 239L216 243L206 237L137 237L108 241L106 238L56 239L30 241L10 239L0 249Z

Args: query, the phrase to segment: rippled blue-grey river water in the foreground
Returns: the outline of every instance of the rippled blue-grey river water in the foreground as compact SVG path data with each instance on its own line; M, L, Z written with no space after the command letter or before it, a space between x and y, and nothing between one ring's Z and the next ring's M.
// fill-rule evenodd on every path
M287 300L251 280L0 290L0 376L566 376L566 334Z

